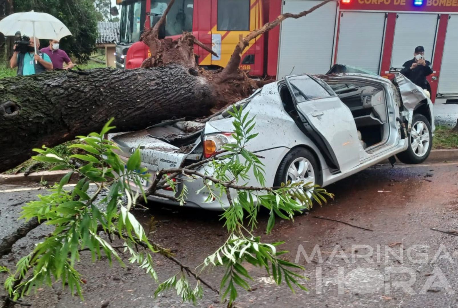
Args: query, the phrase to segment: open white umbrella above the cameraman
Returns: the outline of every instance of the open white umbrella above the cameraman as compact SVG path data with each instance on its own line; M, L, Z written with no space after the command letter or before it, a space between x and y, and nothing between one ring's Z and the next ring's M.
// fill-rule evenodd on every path
M0 21L0 32L5 36L14 36L17 31L35 39L55 39L71 35L64 23L48 13L22 12L6 16ZM36 43L36 41L34 42ZM37 53L35 44L35 54Z

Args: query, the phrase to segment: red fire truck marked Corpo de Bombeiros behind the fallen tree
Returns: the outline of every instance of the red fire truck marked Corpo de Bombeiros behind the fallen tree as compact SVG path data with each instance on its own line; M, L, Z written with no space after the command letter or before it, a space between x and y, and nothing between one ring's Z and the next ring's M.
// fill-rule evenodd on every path
M123 1L118 67L139 67L149 49L141 32L158 21L169 0ZM199 64L224 67L246 34L282 12L298 13L321 0L176 0L162 29L178 37L192 31L218 57L196 46ZM322 74L336 64L356 66L386 78L425 48L434 73L436 101L458 98L458 0L340 0L310 15L286 19L245 49L240 67L252 76Z

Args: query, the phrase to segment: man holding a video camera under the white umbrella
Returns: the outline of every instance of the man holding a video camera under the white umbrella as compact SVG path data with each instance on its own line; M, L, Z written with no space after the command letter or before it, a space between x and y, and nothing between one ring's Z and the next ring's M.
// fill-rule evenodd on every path
M30 38L27 51L21 50L15 51L10 60L11 68L17 67L17 76L34 75L44 72L45 70L52 70L53 64L49 55L47 54L35 54L35 39ZM40 48L40 41L37 39L37 50ZM37 63L35 63L37 62Z

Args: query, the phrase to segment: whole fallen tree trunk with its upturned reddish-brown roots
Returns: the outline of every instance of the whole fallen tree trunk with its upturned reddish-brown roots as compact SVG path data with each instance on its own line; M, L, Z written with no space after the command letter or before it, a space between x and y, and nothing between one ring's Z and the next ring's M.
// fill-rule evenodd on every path
M142 41L152 52L143 69L46 72L1 80L0 172L27 160L34 147L55 146L76 135L98 131L111 117L115 118L116 131L139 130L174 117L206 116L247 97L258 86L239 70L249 42L284 19L306 16L330 1L299 14L284 13L240 36L222 71L198 68L194 44L211 50L192 33L176 40L158 38L174 4L171 0L159 22L142 34Z

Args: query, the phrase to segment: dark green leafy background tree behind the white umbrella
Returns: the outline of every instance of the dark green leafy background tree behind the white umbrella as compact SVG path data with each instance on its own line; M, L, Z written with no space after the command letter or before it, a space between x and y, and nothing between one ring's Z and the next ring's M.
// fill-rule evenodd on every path
M86 62L96 50L98 36L98 11L94 0L15 0L14 10L39 11L59 18L69 28L70 37L60 40L60 48L75 57L78 63ZM43 42L47 46L48 42Z

